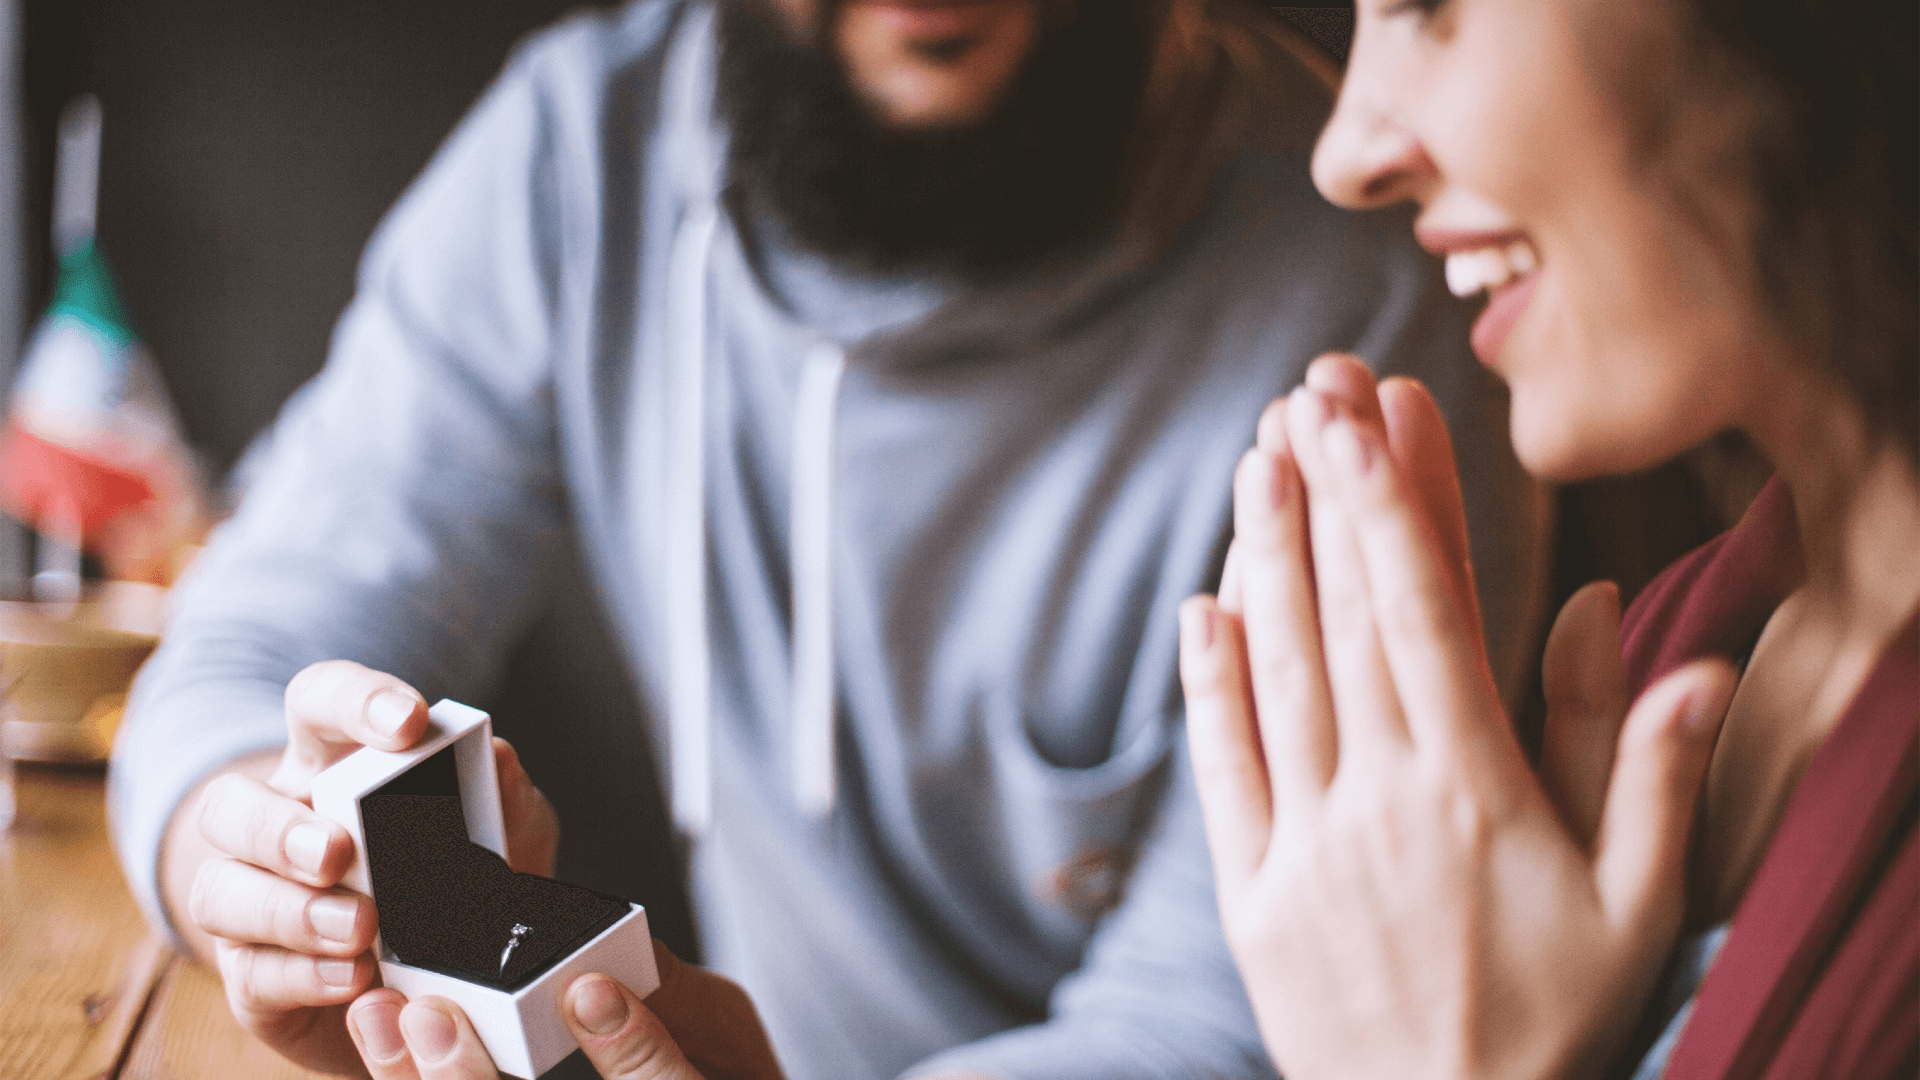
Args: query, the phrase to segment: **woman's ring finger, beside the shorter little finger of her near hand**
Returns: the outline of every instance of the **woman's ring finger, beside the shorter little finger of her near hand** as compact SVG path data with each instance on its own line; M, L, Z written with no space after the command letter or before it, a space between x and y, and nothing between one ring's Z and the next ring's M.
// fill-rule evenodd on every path
M1315 611L1308 496L1284 446L1240 459L1233 482L1246 680L1273 813L1306 813L1332 778L1338 738Z

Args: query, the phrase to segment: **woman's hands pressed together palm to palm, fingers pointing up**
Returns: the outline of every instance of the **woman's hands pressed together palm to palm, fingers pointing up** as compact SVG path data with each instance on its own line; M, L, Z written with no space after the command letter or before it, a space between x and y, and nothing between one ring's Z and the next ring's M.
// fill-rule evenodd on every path
M1599 1070L1676 940L1734 671L1628 709L1619 600L1588 586L1536 773L1473 596L1432 398L1321 357L1240 463L1221 596L1181 611L1221 917L1288 1080Z

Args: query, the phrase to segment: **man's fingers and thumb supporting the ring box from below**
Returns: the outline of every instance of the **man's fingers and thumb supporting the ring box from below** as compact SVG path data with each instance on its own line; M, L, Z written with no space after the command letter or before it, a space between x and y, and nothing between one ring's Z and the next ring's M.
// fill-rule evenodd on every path
M605 974L582 974L563 1019L605 1080L780 1080L747 992L653 944L660 986L647 1001ZM374 1080L493 1080L472 1022L445 997L374 990L348 1009Z

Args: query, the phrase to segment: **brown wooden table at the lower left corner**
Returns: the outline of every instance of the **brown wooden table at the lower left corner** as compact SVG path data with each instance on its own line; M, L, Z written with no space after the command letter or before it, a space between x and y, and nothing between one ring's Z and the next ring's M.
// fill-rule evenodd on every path
M253 1042L219 978L148 932L98 769L21 765L17 796L0 834L0 1078L323 1076Z

